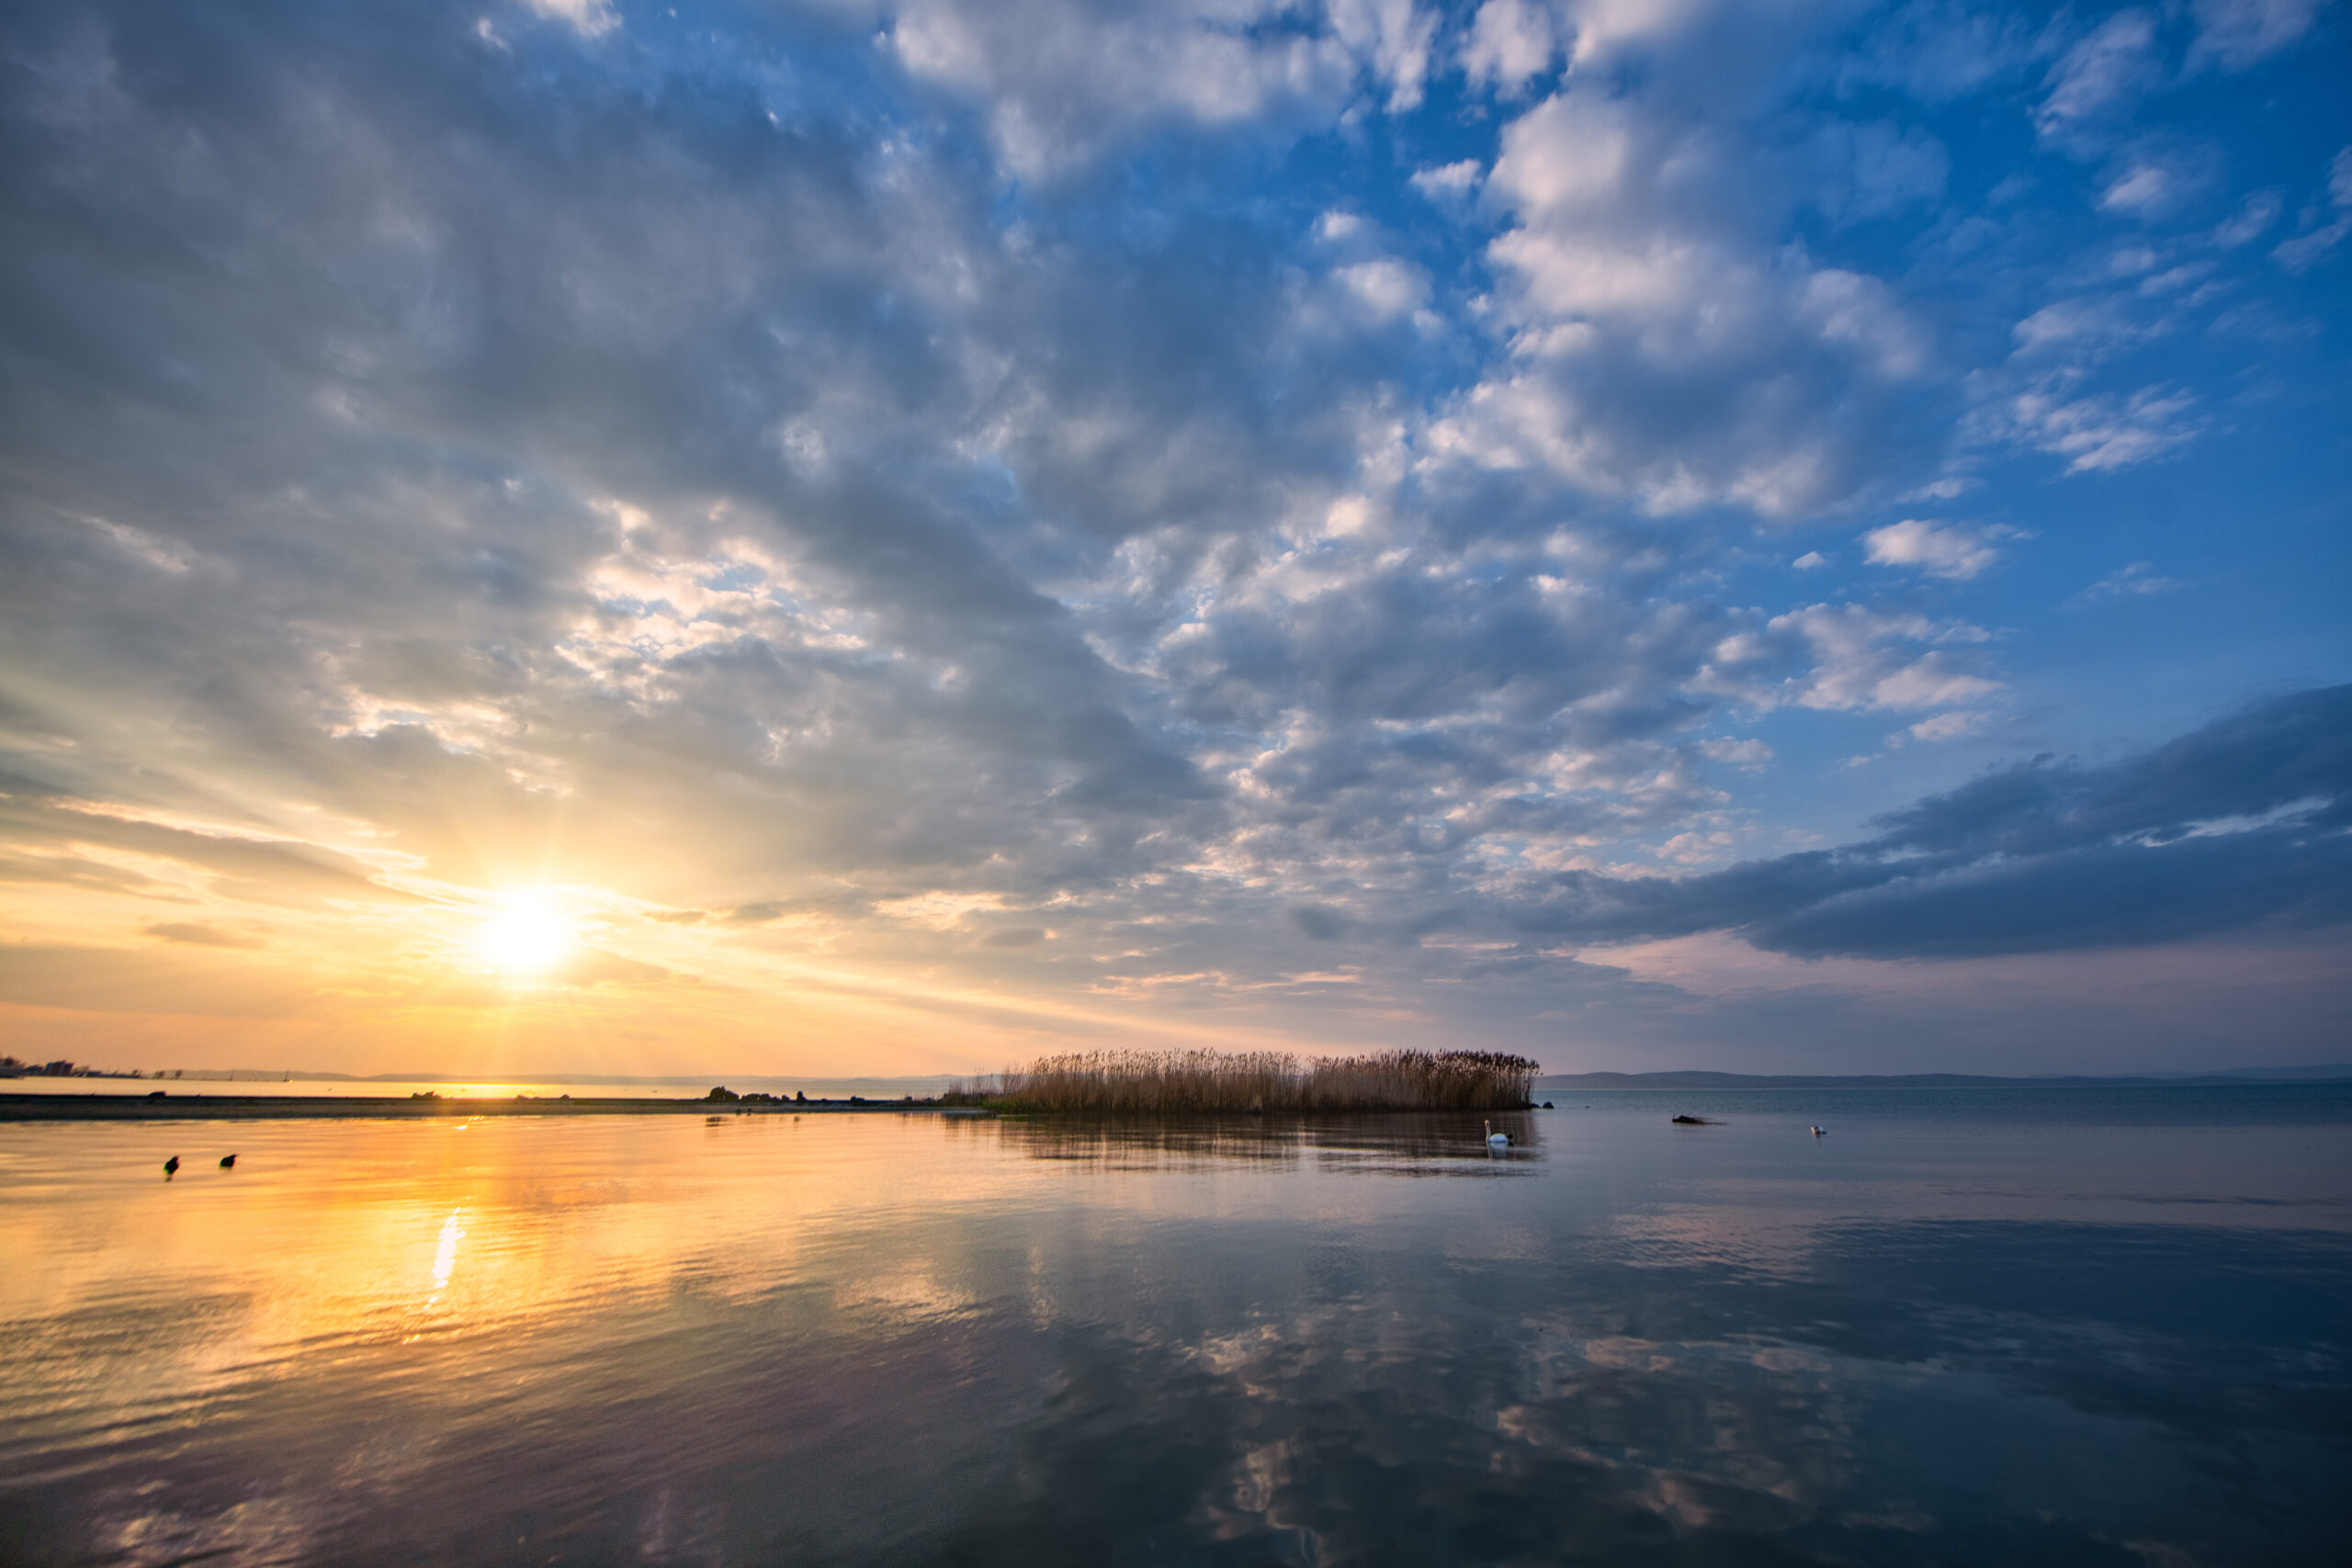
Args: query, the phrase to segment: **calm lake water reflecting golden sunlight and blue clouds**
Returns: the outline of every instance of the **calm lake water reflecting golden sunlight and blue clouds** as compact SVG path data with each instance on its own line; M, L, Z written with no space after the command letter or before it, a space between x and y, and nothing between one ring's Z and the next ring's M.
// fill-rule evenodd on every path
M2352 1086L1555 1103L7 1126L0 1561L2345 1559Z

